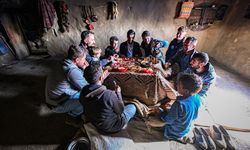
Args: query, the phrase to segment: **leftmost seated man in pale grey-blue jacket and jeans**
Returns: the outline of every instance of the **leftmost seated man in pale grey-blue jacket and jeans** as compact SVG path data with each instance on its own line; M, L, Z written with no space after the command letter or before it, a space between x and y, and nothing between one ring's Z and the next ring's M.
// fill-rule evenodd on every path
M86 49L71 45L63 64L49 74L46 102L54 106L53 112L68 113L73 117L83 113L79 98L81 89L88 85L83 75L83 69L88 66L86 53Z

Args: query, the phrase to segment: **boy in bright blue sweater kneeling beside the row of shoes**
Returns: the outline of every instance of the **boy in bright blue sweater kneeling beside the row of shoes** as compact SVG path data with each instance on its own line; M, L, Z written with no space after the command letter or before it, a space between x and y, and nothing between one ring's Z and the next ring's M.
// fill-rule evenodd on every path
M198 116L201 98L197 94L202 88L202 80L195 74L180 73L177 77L178 96L169 109L169 104L163 104L152 110L159 113L161 120L166 122L164 136L168 140L185 143L193 121Z

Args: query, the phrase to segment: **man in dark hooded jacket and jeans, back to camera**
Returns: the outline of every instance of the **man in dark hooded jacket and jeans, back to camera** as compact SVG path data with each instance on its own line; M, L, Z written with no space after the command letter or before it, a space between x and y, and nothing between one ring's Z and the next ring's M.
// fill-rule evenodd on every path
M112 91L102 85L105 74L99 63L93 63L86 69L90 85L82 89L80 102L86 117L99 131L114 133L126 126L135 115L136 107L134 104L124 106L119 86Z

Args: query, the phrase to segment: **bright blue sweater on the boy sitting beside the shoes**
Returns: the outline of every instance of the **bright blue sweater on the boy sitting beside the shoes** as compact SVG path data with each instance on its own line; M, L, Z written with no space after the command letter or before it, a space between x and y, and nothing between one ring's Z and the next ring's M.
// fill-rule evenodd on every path
M167 139L182 138L190 131L192 122L198 117L201 98L198 94L189 97L177 97L170 111L161 110L160 116L166 122L164 136Z

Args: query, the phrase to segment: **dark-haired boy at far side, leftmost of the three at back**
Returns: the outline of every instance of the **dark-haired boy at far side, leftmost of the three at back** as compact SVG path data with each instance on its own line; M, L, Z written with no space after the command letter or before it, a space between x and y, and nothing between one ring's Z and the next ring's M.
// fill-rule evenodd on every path
M105 58L109 59L111 56L120 55L119 39L116 36L111 36L109 39L110 45L105 49Z

